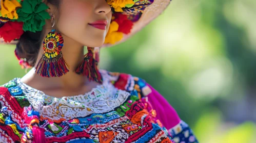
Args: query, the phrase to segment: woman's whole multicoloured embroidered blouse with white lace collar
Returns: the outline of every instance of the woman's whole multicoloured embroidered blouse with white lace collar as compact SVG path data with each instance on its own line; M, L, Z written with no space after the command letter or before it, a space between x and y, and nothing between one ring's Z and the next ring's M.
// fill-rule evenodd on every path
M0 142L198 142L143 79L100 73L102 85L71 97L48 96L20 78L1 86Z

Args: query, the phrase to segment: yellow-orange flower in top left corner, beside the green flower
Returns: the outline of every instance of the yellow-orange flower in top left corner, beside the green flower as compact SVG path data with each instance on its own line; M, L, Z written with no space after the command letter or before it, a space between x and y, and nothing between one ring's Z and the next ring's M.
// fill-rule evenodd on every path
M4 1L1 0L1 14L3 17L8 17L10 19L17 19L18 14L16 13L16 8L22 7L16 0L8 0Z

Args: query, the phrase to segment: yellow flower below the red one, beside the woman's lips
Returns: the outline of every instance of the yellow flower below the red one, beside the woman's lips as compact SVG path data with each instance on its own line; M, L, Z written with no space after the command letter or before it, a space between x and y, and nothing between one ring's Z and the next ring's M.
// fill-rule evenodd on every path
M123 38L124 34L122 32L117 32L118 28L119 25L116 21L110 23L104 43L114 44L115 42L120 41Z

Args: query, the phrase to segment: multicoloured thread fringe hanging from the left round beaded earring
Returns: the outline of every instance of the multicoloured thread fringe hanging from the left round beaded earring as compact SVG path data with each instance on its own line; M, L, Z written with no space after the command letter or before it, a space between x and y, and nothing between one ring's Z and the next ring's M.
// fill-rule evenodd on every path
M68 73L69 65L63 58L62 52L57 57L49 59L43 55L38 62L35 72L42 77L61 77Z

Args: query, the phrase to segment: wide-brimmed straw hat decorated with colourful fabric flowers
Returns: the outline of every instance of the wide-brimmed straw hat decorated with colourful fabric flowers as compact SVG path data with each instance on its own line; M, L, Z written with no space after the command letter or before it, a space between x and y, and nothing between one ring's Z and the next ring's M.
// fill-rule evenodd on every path
M45 11L48 7L42 0L0 1L0 43L16 44L24 31L42 31L44 20L50 18ZM107 0L107 3L112 9L112 20L102 47L127 40L159 16L169 5L170 0ZM27 11L29 6L35 6L33 8L36 10ZM28 18L31 15L39 18L31 20Z

